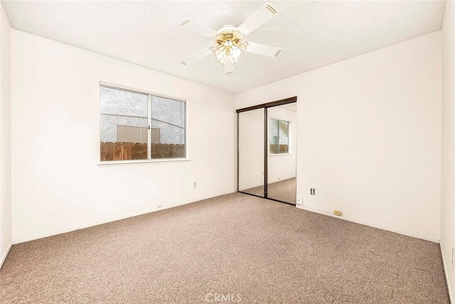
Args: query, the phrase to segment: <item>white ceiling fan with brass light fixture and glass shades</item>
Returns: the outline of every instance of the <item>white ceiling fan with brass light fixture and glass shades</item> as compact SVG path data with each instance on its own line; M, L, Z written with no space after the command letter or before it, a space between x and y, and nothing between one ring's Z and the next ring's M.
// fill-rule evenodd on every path
M181 64L187 65L199 60L200 58L208 56L210 53L214 53L215 61L223 64L225 66L225 73L230 74L234 73L232 65L240 60L242 51L257 53L269 57L278 57L282 52L281 48L265 46L264 44L243 40L245 36L272 19L276 14L278 14L277 9L272 4L267 3L256 11L255 14L252 14L252 16L250 16L250 18L242 23L242 25L238 28L232 26L231 24L227 24L219 31L203 26L202 24L191 19L181 21L181 26L215 40L215 46L210 46L210 48L206 48L203 51L189 56L184 61L181 61Z

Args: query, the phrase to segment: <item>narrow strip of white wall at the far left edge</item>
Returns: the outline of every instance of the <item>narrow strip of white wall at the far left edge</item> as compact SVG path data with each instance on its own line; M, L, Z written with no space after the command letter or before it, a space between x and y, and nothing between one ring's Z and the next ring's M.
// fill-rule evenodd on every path
M11 27L0 4L0 267L11 248Z

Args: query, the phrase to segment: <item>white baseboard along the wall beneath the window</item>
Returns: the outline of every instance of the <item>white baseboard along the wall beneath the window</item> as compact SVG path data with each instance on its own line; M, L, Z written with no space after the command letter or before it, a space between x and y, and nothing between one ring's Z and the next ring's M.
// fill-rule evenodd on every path
M196 201L185 201L185 202L183 202L181 204L163 206L162 208L159 208L159 209L152 209L152 210L134 212L134 213L131 213L131 214L127 214L125 216L118 216L118 217L114 217L114 218L110 218L110 219L104 219L102 221L95 221L95 222L92 222L90 224L85 224L85 225L80 225L80 226L71 226L71 227L68 227L68 228L65 228L65 229L56 229L56 230L52 230L52 231L45 231L42 234L31 235L31 236L28 236L28 237L23 238L23 239L14 239L12 243L14 245L16 245L18 243L25 243L25 242L28 242L28 241L35 241L35 240L38 240L38 239L47 238L48 236L56 236L58 234L66 234L66 233L71 232L71 231L76 231L76 230L80 230L80 229L90 228L90 227L93 227L93 226L107 224L107 223L111 223L112 221L121 221L122 219L129 219L130 217L134 217L134 216L140 216L140 215L144 215L144 214L149 214L151 212L171 209L171 208L175 208L175 207L178 207L178 206L183 206L183 205L186 205L186 204L192 204L192 203L196 203L197 201L203 201L204 199L211 199L211 198L214 198L214 197L217 197L217 196L222 196L222 195L231 194L231 193L234 193L234 192L232 191L232 192L226 192L226 193L221 193L221 194L215 194L215 196L208 196L208 197L198 198L198 199L196 199Z

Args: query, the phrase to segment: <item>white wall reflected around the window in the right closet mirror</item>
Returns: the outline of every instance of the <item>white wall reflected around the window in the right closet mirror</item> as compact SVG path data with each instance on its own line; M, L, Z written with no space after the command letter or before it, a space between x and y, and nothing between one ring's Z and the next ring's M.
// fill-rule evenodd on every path
M269 118L276 118L289 122L290 154L269 154L267 160L267 182L269 184L280 180L296 177L296 127L297 112L281 107L267 109Z

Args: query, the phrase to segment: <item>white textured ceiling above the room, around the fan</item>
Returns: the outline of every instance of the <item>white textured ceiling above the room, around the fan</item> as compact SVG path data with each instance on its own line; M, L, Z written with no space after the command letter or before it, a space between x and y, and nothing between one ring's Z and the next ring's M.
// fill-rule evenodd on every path
M283 48L244 52L225 75L214 56L180 61L212 44L181 28L240 26L265 1L2 1L11 26L154 70L240 93L410 38L439 31L444 1L271 1L279 14L245 40Z

